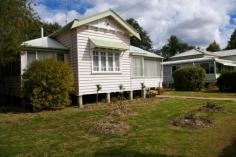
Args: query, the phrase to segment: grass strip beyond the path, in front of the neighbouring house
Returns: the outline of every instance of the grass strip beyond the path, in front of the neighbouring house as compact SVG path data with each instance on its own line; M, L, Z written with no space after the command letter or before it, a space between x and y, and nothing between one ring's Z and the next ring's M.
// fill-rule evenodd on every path
M202 91L175 91L171 89L167 89L164 92L164 95L175 95L175 96L190 96L190 97L217 97L217 98L236 98L236 93L227 93L227 92L219 92L217 89L212 90L202 90Z

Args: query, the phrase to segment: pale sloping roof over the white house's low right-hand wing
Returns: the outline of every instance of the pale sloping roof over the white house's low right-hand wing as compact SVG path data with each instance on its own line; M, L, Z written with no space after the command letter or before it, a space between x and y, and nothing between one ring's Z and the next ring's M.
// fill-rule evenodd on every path
M135 46L131 46L129 47L129 51L131 53L131 55L134 56L145 56L145 57L152 57L152 58L163 58L155 53L143 50L139 47L135 47Z

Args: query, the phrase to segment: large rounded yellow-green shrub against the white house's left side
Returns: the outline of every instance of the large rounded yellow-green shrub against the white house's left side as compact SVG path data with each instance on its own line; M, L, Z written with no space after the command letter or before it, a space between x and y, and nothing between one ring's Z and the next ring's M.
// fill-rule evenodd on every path
M64 107L70 104L73 76L69 65L54 59L34 61L23 74L24 97L34 110Z

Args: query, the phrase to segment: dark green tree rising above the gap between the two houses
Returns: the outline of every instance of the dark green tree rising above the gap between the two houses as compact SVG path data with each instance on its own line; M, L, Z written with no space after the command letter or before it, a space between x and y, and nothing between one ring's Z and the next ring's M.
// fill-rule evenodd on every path
M169 38L168 43L161 48L161 54L165 58L169 58L177 53L182 53L193 48L194 46L188 45L179 40L176 36L172 35Z

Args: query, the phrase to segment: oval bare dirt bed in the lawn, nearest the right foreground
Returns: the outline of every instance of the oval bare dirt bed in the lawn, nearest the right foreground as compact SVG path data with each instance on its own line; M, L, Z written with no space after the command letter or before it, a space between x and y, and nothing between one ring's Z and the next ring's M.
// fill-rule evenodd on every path
M175 118L173 125L186 128L207 128L212 126L212 121L206 117L199 117L191 113Z

